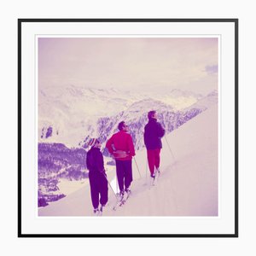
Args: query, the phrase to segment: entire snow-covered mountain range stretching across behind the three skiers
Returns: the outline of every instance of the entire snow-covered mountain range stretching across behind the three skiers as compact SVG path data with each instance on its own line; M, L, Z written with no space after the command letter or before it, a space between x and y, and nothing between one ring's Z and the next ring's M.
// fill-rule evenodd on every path
M73 85L61 89L48 87L38 92L38 141L79 147L89 137L106 139L108 132L102 131L102 125L105 130L113 131L114 125L125 119L135 124L134 129L138 125L143 126L145 113L152 108L160 113L167 130L172 131L173 127L177 127L173 119L182 118L183 109L190 111L190 106L201 99L201 95L181 90L171 90L164 95L158 92L152 96L149 92L138 94L135 91L99 90ZM173 113L176 113L175 118ZM176 124L179 122L183 123L177 119ZM131 125L131 130L133 128ZM138 143L137 148L141 148L141 144Z

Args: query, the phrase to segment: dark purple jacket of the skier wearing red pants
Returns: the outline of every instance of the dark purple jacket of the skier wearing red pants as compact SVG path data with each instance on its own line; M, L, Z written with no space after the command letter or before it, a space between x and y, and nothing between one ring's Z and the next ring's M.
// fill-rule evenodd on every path
M144 143L147 149L162 148L161 137L165 135L165 129L156 119L149 119L144 128Z

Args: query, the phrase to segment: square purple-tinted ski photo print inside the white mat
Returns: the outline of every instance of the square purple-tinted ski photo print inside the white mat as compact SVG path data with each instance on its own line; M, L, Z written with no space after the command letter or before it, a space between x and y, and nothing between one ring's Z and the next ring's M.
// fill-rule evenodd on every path
M219 40L38 36L38 218L217 218Z

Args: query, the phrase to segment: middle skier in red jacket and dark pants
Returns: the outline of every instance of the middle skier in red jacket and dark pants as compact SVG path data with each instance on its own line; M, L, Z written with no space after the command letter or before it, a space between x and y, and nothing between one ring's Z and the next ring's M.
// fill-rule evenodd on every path
M119 132L113 134L106 143L108 152L113 154L116 162L116 175L119 183L119 190L121 198L126 192L128 195L131 193L132 182L132 168L131 159L135 155L134 145L131 135L128 133L128 126L125 121L118 125ZM125 185L125 189L124 189Z

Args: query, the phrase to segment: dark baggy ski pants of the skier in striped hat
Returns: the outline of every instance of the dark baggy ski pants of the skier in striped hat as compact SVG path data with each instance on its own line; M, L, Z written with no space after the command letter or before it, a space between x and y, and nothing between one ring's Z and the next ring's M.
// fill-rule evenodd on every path
M89 172L90 197L94 209L99 207L99 202L102 205L108 202L108 181L104 175L102 172Z

